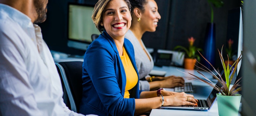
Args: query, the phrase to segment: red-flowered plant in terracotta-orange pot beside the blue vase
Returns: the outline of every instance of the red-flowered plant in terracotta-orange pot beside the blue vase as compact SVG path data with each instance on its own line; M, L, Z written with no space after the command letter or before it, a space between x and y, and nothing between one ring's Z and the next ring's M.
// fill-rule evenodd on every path
M194 41L195 41L194 37L189 37L188 41L189 41L188 48L178 45L178 46L174 47L174 50L178 49L179 51L181 51L181 50L185 51L184 68L192 70L192 69L194 69L194 66L196 63L195 58L198 61L200 61L200 56L198 54L196 54L197 53L196 51L202 51L202 49L193 46Z

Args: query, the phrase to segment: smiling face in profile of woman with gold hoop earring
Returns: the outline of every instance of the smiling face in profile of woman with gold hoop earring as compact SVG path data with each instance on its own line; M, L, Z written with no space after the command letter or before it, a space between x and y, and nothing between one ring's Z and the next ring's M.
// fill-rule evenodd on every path
M157 3L155 0L148 0L148 3L144 5L144 9L141 15L141 27L145 31L154 32L156 31L158 20L161 19Z

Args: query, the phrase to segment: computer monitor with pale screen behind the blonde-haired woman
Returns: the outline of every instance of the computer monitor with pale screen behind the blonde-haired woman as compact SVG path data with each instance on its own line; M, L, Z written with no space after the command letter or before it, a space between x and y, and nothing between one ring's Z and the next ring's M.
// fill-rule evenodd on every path
M92 42L92 34L100 34L91 16L94 6L68 3L67 46L86 50Z

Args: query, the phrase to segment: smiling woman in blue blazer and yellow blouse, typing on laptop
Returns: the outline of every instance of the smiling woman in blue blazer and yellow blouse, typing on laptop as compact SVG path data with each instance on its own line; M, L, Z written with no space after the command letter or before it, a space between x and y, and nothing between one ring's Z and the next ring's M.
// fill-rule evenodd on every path
M79 112L132 116L160 106L196 105L193 95L184 92L139 90L134 49L124 38L131 26L130 10L129 0L99 0L96 3L92 20L102 34L89 45L84 55ZM127 56L125 62L123 56ZM132 88L126 88L131 85Z

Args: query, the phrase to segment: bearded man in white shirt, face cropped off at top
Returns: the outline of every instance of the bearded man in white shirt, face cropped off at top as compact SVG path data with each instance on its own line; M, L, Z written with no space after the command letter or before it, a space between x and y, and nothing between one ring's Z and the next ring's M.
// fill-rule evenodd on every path
M33 23L48 0L0 0L0 116L73 116L51 52Z

